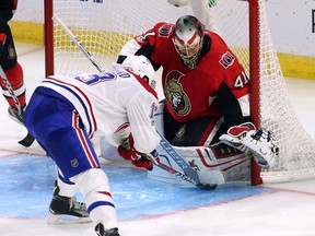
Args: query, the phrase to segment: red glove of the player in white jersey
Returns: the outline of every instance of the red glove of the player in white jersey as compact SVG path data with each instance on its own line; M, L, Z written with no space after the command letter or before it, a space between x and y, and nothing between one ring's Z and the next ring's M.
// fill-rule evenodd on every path
M122 158L130 161L137 167L143 167L148 170L153 169L153 164L160 163L159 153L155 150L150 153L151 155L138 152L133 146L131 134L121 145L118 146L117 151Z

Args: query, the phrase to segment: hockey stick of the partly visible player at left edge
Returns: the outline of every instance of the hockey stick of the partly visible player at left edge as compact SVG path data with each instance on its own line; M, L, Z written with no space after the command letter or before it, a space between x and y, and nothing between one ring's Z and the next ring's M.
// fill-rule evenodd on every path
M18 109L18 115L23 117L23 110L22 110L20 101L19 101L18 96L14 94L14 91L13 91L13 88L11 86L11 83L8 80L8 78L7 78L5 73L4 73L3 68L1 67L1 64L0 64L0 75L1 75L2 81L4 82L4 84L7 86L7 90L8 90L9 94L11 95L11 97L12 97L14 104L15 104L15 107ZM35 140L34 137L30 132L27 132L26 137L24 139L20 140L19 143L21 145L23 145L23 146L28 148L28 146L32 145L34 140Z

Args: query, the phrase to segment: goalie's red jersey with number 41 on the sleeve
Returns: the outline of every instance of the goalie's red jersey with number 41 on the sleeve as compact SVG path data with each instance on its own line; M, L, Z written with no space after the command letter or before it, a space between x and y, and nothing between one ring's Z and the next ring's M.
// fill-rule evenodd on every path
M185 123L200 117L223 117L218 139L229 127L249 119L249 80L224 40L209 31L205 31L196 61L185 63L174 46L174 24L158 23L128 42L118 62L130 54L144 55L156 70L163 67L162 86L173 119Z

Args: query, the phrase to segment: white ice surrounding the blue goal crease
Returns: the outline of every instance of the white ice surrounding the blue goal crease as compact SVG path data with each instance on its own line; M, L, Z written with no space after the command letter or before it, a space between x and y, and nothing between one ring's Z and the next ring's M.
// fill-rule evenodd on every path
M18 52L24 69L30 97L34 86L44 78L44 48L18 44ZM287 79L287 82L299 119L306 132L314 138L315 82L293 79ZM25 149L16 141L25 135L26 131L9 119L7 108L8 105L1 97L0 157L20 151L25 152ZM44 154L36 143L27 152ZM122 221L119 223L120 233L122 236L315 235L315 180L268 187L273 191L147 220ZM178 196L178 201L180 201L180 196ZM141 208L141 202L139 208ZM2 215L0 216L0 235L95 236L95 233L92 224L51 226L46 223L45 219L11 219Z

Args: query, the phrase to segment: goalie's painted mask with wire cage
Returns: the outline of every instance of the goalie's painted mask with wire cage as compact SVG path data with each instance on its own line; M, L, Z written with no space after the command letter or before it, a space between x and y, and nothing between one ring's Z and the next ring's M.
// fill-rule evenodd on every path
M205 25L192 15L179 17L175 24L173 43L184 63L196 68L196 61L203 44Z

